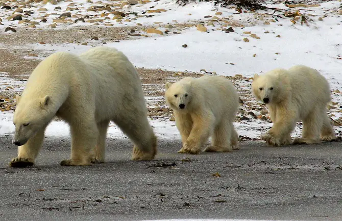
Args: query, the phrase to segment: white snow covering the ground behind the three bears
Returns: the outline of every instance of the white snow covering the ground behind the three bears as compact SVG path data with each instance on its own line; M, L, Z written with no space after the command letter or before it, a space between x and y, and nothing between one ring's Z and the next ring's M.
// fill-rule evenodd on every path
M85 3L85 1L75 1ZM106 3L104 1L104 3ZM58 6L65 8L65 3ZM154 17L139 17L134 22L125 24L113 23L115 26L135 25L136 22L144 24L153 24L154 22L185 22L189 20L206 20L204 15L213 16L216 10L222 11L220 17L229 17L231 20L253 20L250 13L236 14L233 9L215 7L212 3L190 4L186 7L178 7L174 3L166 0L148 3L142 7L132 6L130 11L143 11L155 5L154 9L165 8L167 12L154 13ZM333 90L342 91L341 70L342 44L340 32L342 30L342 16L334 15L324 17L324 21L319 21L318 17L323 16L328 9L336 9L340 5L338 1L322 3L320 7L310 8L311 11L301 11L316 15L312 17L310 26L305 24L292 24L289 19L279 19L278 22L263 24L261 21L255 21L255 26L244 28L235 27L234 32L226 33L216 25L216 27L207 26L208 32L200 32L196 27L191 27L181 31L181 34L170 34L168 36L151 35L152 37L139 38L135 40L122 40L120 42L107 42L105 46L116 47L123 51L130 61L136 67L144 68L162 68L165 70L176 71L195 71L201 69L206 71L215 71L217 75L234 76L241 74L245 77L253 77L254 73L265 72L274 68L289 68L296 64L304 64L318 69L329 81ZM53 11L54 6L46 6ZM284 8L283 5L270 5L269 7ZM89 12L91 13L91 12ZM260 12L264 13L264 12ZM191 15L188 15L191 14ZM218 15L217 15L218 16ZM131 23L131 24L129 24ZM76 24L75 24L76 25ZM164 30L159 28L160 30ZM268 31L269 33L265 33ZM260 37L255 39L251 32ZM277 37L280 35L280 37ZM242 39L248 38L249 42ZM65 44L28 44L27 48L33 48L42 52L69 51L72 53L82 53L91 46L101 45L101 41L89 41L88 45L79 45L72 43ZM181 45L187 44L186 48ZM255 57L253 55L256 54ZM248 85L247 85L248 86ZM162 99L157 97L154 99ZM146 97L148 104L151 103L151 97ZM333 101L340 103L337 95L333 96ZM153 102L152 102L153 103ZM340 117L338 112L335 117ZM14 126L11 122L12 113L0 114L0 134L13 134ZM160 138L179 139L179 132L175 127L174 121L168 119L150 119L155 128L157 136ZM272 124L252 120L248 124L235 123L239 135L256 138L262 131L256 130L263 127L267 129ZM48 126L47 136L69 136L68 126L61 121L54 121ZM292 135L299 135L300 127ZM108 131L108 137L125 137L117 127L111 125Z

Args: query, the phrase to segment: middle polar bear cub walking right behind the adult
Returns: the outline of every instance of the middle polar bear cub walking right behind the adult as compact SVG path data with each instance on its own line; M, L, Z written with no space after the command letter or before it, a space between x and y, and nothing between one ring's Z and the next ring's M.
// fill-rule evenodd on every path
M225 77L183 78L165 85L165 100L173 109L183 147L179 153L198 154L212 136L205 152L238 149L233 126L239 102L237 91Z

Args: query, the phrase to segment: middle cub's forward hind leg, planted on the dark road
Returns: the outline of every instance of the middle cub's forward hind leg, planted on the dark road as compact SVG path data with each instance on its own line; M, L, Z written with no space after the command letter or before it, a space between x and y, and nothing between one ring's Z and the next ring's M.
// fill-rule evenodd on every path
M212 145L208 146L204 152L229 152L233 148L231 146L231 125L227 120L221 121L213 132Z

